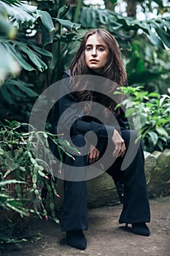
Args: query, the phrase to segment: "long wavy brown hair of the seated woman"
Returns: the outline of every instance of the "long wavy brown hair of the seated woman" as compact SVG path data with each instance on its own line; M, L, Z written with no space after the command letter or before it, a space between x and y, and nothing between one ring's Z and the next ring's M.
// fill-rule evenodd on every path
M109 50L107 64L105 65L103 71L100 74L102 77L108 78L109 80L112 80L114 82L114 86L112 86L112 88L108 89L107 86L106 88L104 88L105 94L108 95L115 91L115 84L116 87L125 86L127 80L127 75L125 72L125 67L123 65L123 60L121 58L119 45L115 37L113 37L112 34L110 34L108 31L106 31L105 29L91 29L90 31L88 31L82 38L80 48L77 50L77 53L72 60L70 69L72 76L92 74L94 75L94 72L88 67L85 62L85 45L88 37L92 36L93 34L97 34L99 37L101 37ZM96 75L98 74L96 73ZM74 86L78 89L79 85L76 84ZM85 84L82 91L79 91L79 98L80 100L93 100L91 92L88 91L88 83ZM112 100L109 101L108 104L109 106L107 106L107 108L115 113L115 104L112 102Z

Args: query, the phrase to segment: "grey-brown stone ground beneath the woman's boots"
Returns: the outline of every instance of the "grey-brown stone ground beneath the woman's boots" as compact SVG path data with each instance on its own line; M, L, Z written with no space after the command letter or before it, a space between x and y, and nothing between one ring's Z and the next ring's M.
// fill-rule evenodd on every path
M151 235L137 236L131 227L125 231L117 223L121 205L93 208L88 211L89 229L85 231L87 249L66 245L65 233L52 221L31 217L28 233L20 251L9 245L2 256L169 256L170 255L170 197L150 200ZM40 238L36 241L36 238Z

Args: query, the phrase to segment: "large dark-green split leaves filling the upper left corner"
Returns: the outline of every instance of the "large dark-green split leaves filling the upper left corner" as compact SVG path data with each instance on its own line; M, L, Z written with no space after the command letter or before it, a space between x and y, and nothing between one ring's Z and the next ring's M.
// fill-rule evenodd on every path
M47 69L45 61L52 58L52 53L42 49L39 42L31 42L30 33L39 28L46 31L45 35L53 34L55 28L50 15L37 10L26 1L0 1L0 7L1 47L3 46L7 50L12 59L15 59L20 65L20 68L28 72L35 72L35 75L45 71ZM7 29L4 24L7 24ZM31 29L28 30L29 28ZM49 42L51 42L50 38L47 37L44 44ZM5 68L6 63L7 58L4 56L4 59L1 59L1 66ZM15 119L17 113L18 119L22 120L22 116L28 116L26 103L33 104L37 94L30 83L27 84L10 73L1 86L0 96L1 109L3 109L1 120L3 118ZM20 106L24 102L25 108L23 109Z

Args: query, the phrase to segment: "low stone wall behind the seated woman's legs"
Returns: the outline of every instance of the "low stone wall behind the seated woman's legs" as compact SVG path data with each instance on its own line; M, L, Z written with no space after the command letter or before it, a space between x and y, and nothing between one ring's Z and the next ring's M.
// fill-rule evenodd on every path
M147 189L150 198L170 195L170 149L163 152L144 152ZM120 203L114 181L103 173L97 178L87 181L88 206L108 206ZM56 204L63 203L63 181L58 180L58 193L61 198Z

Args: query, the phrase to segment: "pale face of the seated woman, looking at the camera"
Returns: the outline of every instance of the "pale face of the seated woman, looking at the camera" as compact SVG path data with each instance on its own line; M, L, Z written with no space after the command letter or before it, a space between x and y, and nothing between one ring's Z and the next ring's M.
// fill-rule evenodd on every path
M107 64L109 49L104 40L93 34L85 44L85 62L94 72L100 73Z

